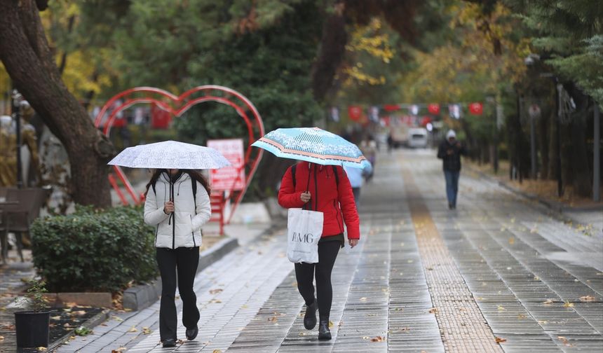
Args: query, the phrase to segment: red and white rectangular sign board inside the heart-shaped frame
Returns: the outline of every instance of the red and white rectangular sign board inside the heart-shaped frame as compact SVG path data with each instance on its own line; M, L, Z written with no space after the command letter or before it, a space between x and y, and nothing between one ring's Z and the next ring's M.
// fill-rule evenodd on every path
M210 181L212 190L240 191L245 188L245 156L243 155L243 139L208 140L208 147L222 153L230 167L212 169Z

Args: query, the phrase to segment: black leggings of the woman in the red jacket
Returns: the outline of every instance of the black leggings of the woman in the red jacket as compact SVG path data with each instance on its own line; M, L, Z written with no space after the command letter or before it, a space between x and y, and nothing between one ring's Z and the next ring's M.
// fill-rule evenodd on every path
M333 288L331 286L331 272L341 242L318 243L318 263L296 263L295 277L297 278L297 289L302 294L306 305L314 301L314 272L316 268L316 300L318 300L318 312L320 317L328 318L333 301Z

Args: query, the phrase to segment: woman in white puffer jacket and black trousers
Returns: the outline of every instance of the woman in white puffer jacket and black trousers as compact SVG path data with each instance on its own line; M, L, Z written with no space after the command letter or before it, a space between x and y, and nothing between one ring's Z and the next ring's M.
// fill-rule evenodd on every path
M156 226L155 247L161 274L159 331L163 347L175 347L176 275L187 339L198 333L199 310L193 289L199 263L201 226L211 216L210 188L193 170L158 169L147 184L144 222Z

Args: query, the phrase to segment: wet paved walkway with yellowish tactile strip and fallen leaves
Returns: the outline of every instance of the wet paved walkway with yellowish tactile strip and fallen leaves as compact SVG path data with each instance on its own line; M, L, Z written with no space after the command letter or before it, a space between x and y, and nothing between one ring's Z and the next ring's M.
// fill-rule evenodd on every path
M430 150L379 155L359 209L362 240L333 272L328 342L304 329L279 230L198 274L197 340L161 348L155 303L58 352L603 352L602 235L467 171L451 211Z

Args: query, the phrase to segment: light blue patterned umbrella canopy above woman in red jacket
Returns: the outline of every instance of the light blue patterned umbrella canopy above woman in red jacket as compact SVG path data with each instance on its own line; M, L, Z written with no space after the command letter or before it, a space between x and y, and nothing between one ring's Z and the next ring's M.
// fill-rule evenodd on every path
M277 157L306 160L319 165L370 166L358 146L318 127L276 129L252 146L264 148Z

